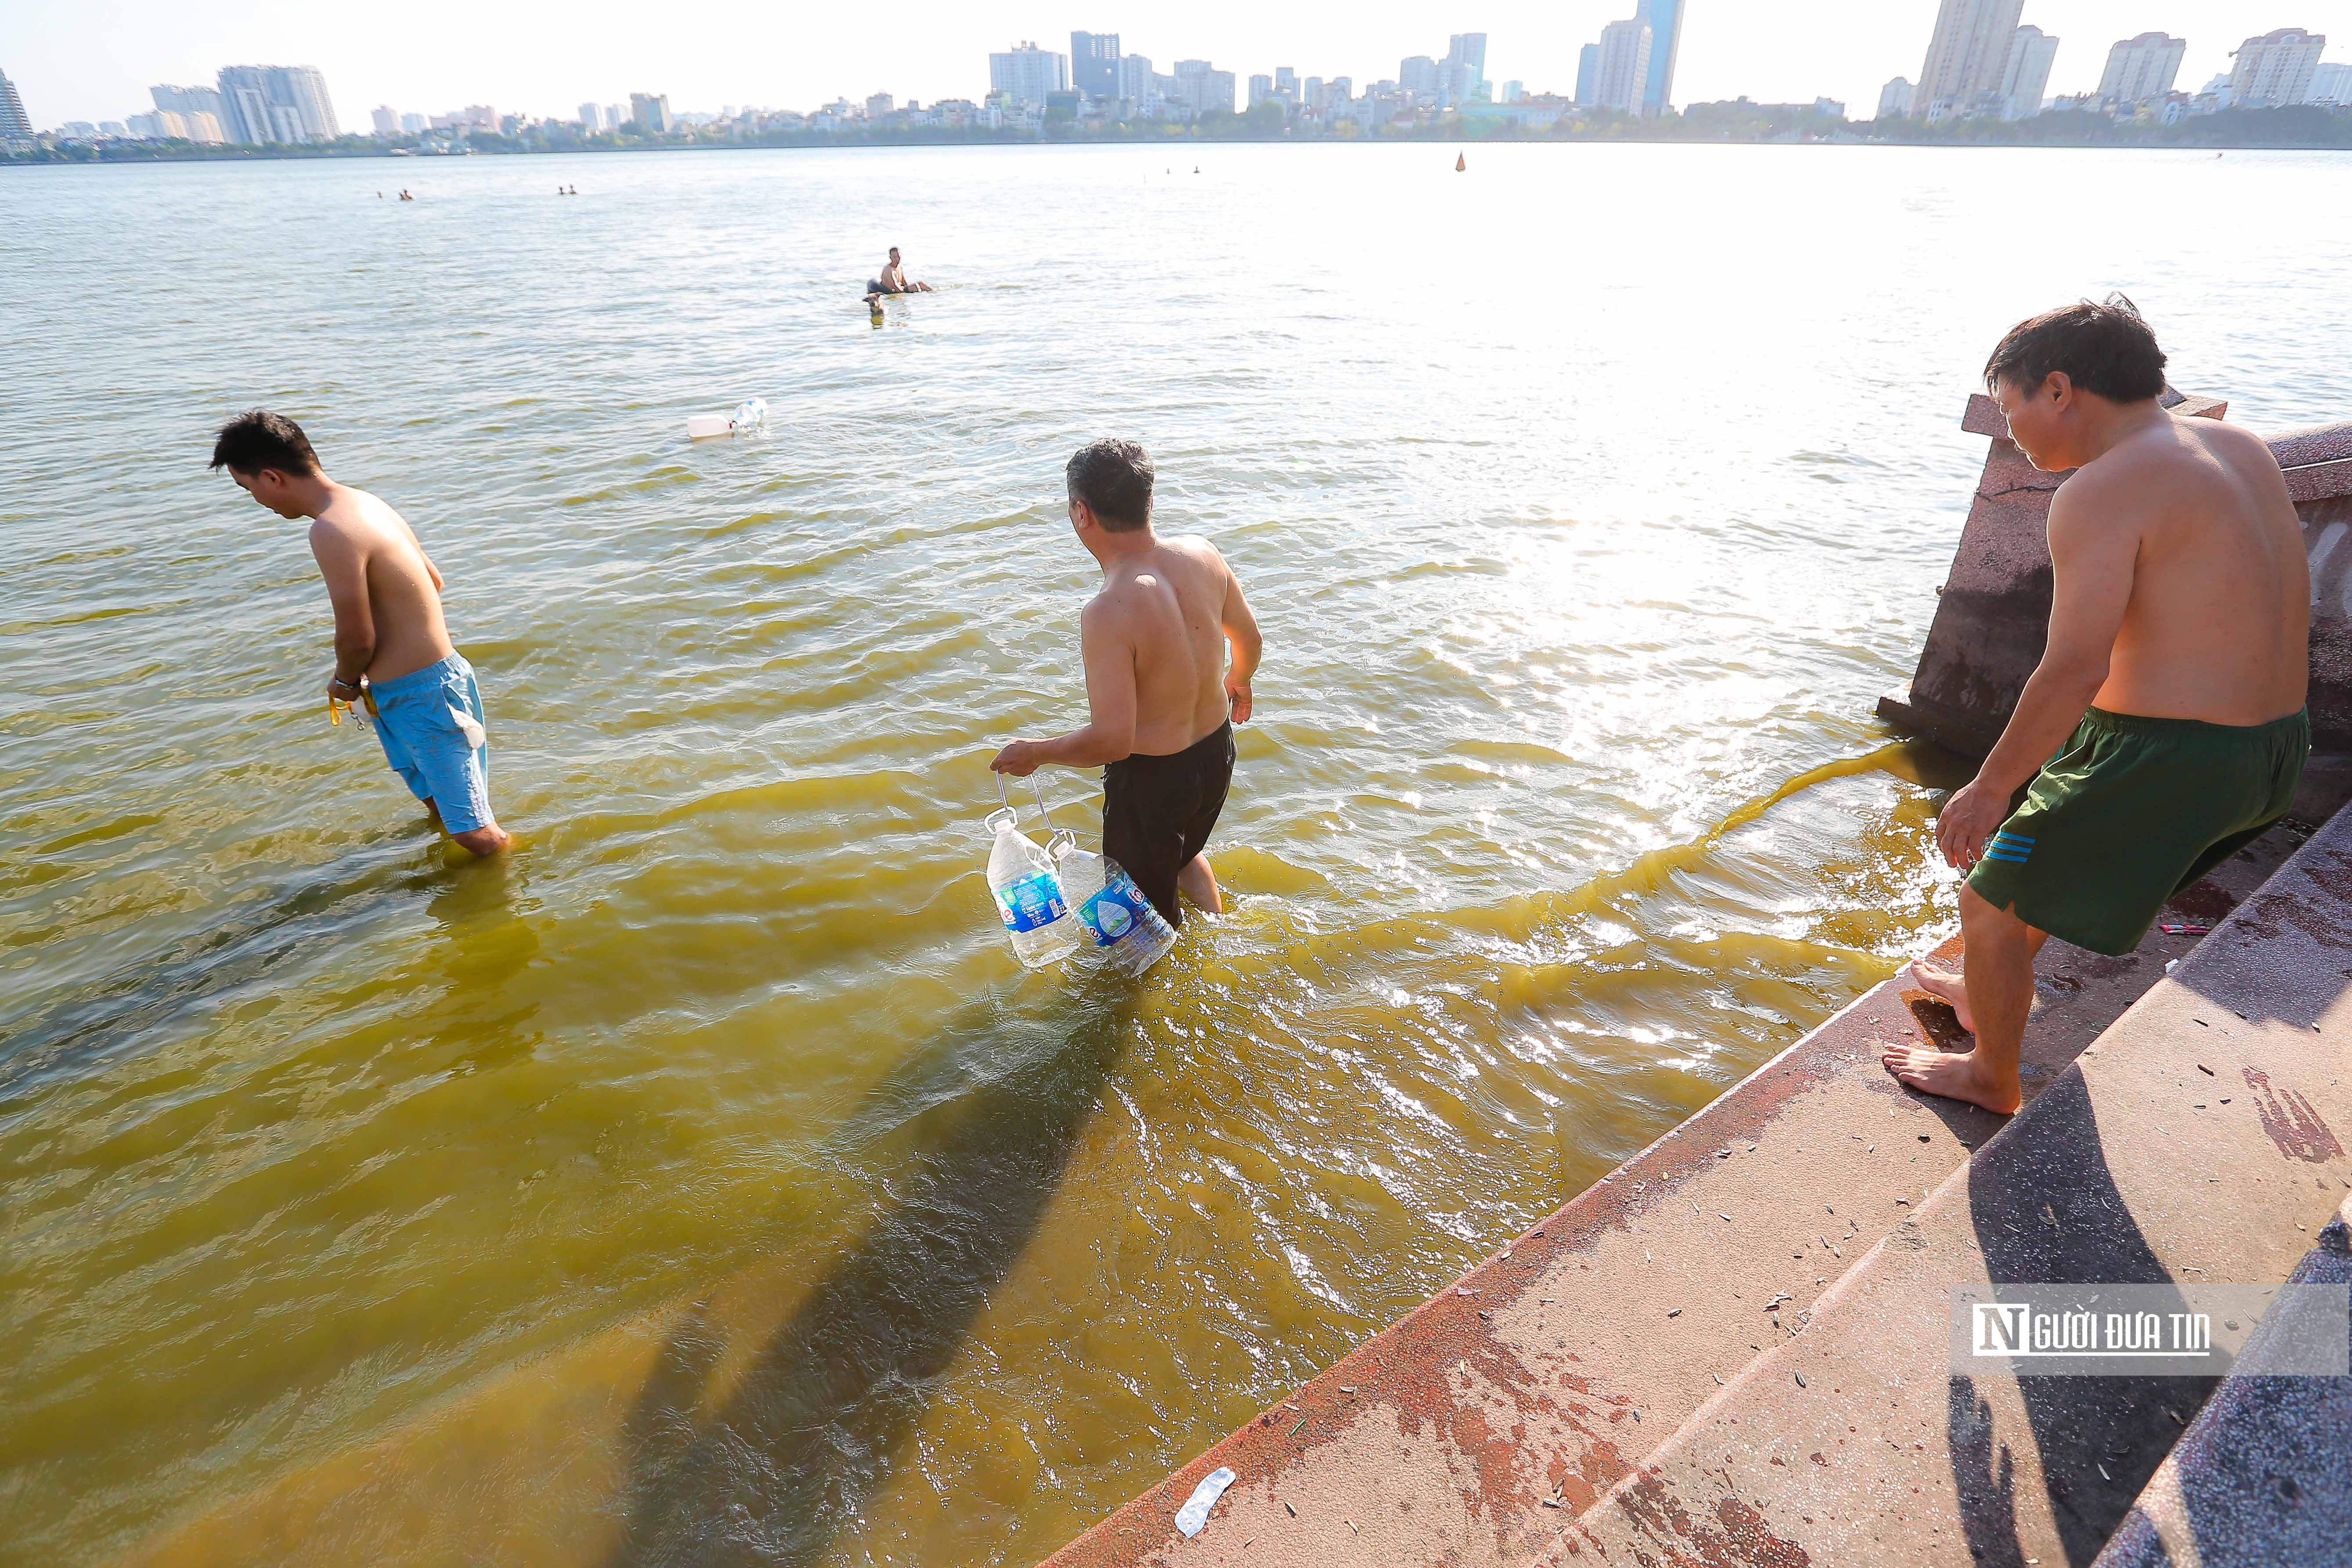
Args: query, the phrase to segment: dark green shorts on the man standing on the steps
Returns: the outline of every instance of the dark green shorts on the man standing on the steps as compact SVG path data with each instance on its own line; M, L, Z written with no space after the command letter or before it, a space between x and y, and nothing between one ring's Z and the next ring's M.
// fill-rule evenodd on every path
M2093 708L1969 886L2037 931L2122 957L2166 898L2286 813L2310 755L2310 712L2206 724Z

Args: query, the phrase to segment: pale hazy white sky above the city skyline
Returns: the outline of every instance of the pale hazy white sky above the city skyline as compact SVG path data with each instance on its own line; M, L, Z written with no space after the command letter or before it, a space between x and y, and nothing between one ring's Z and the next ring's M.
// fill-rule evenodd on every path
M898 21L877 24L880 14ZM1446 5L1291 7L1235 0L981 0L943 5L647 5L644 0L492 0L353 5L350 0L0 0L0 71L33 125L120 120L148 108L153 82L212 82L221 66L318 66L346 129L393 103L435 113L466 103L572 118L583 99L668 92L673 108L760 103L811 108L847 94L976 99L988 52L1035 38L1070 47L1070 28L1117 31L1160 71L1209 59L1251 73L1352 75L1357 89L1406 54L1444 54L1446 33L1486 33L1486 75L1529 92L1576 87L1576 47L1632 0L1449 0ZM1917 80L1936 0L1689 0L1675 101L1844 99L1867 118L1886 78ZM2279 26L2331 31L2328 59L2352 59L2352 0L2027 0L2025 21L2056 33L2051 92L2098 85L2107 45L2150 28L2190 40L2180 85L2227 71L2244 38Z

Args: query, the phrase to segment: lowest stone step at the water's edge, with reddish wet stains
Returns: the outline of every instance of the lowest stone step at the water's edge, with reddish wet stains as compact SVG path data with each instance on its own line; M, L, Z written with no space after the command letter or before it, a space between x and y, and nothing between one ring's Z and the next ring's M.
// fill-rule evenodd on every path
M2270 835L2169 919L2218 924L2300 839ZM2157 931L2126 959L2044 947L2027 1105L2197 940ZM1802 1342L1860 1255L1891 1237L1910 1246L1929 1194L2002 1128L1886 1077L1879 1044L1922 1032L1964 1039L1943 1004L1900 980L1875 987L1049 1568L1501 1566L1550 1552L1691 1413ZM1174 1514L1216 1467L1240 1479L1185 1540Z

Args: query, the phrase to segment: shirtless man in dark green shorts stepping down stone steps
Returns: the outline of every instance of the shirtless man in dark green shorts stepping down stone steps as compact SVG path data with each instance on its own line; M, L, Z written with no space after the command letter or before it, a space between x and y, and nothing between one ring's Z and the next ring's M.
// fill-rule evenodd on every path
M1882 1060L1912 1088L2009 1114L2042 943L2131 952L2166 898L2293 802L2312 750L2312 583L2270 447L2164 411L2164 350L2131 301L2020 322L1985 383L2034 468L2077 473L2051 498L2049 651L1936 823L1969 872L1964 973L1915 964L1912 978L1976 1048Z

